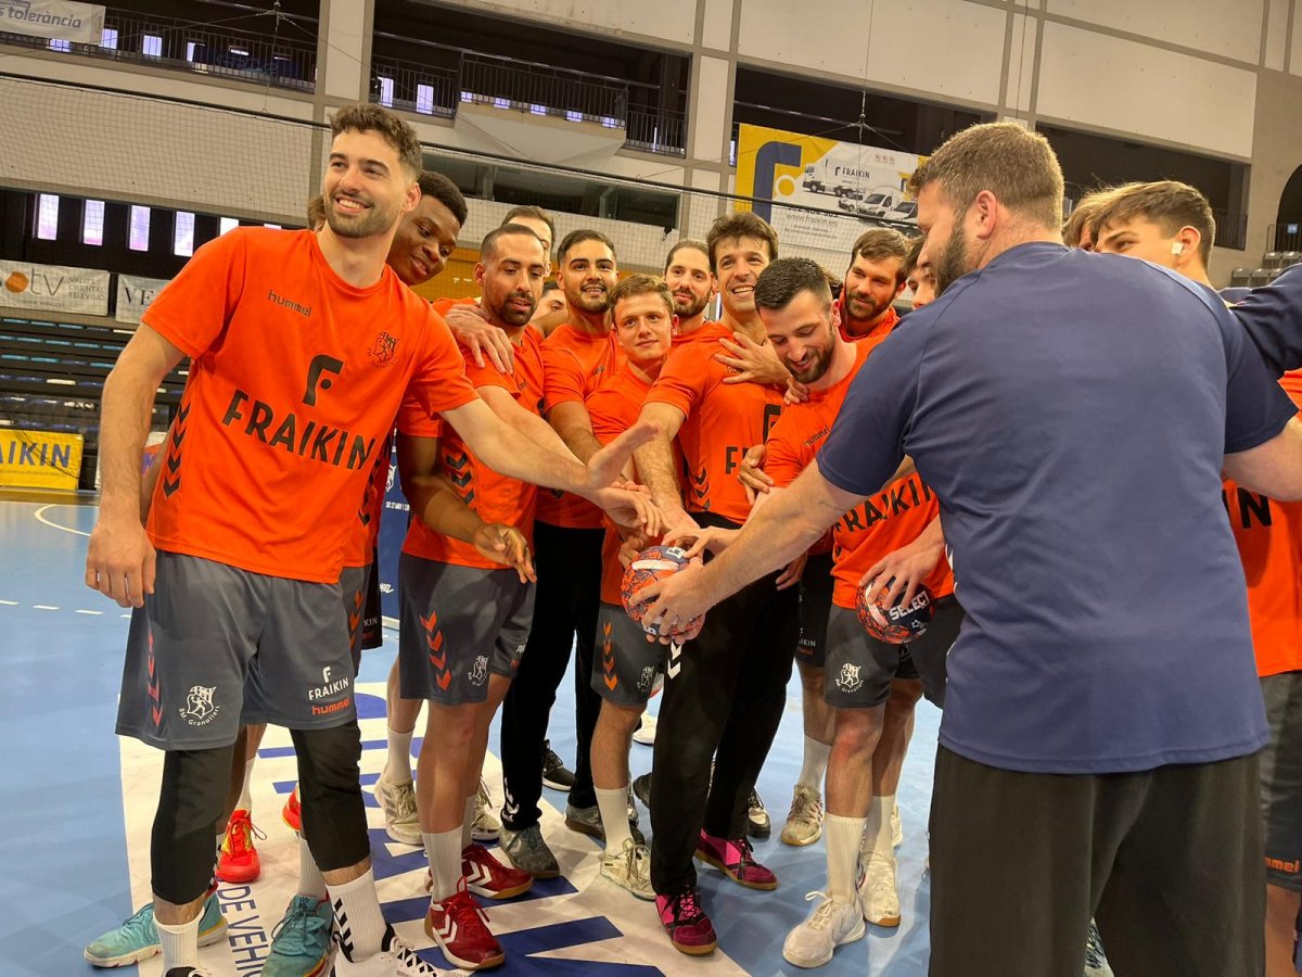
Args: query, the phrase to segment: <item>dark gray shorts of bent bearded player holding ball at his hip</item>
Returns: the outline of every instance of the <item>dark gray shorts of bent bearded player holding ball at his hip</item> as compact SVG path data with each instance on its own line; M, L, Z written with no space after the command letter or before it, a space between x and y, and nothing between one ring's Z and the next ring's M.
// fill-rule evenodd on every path
M887 701L892 679L922 679L927 698L944 706L945 655L962 623L958 602L943 597L922 637L888 645L871 637L854 611L833 604L827 619L823 698L836 709L871 709Z

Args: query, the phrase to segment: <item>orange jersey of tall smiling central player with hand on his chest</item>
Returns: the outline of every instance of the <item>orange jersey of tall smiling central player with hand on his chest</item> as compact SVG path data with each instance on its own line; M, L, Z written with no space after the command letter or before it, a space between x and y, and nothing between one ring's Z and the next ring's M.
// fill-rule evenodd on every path
M721 323L691 333L691 341L669 353L646 403L669 404L684 413L678 446L687 469L687 512L711 512L740 525L750 513L750 502L737 469L783 413L783 391L758 383L724 383L725 376L738 373L715 360L724 337L732 337L732 330Z

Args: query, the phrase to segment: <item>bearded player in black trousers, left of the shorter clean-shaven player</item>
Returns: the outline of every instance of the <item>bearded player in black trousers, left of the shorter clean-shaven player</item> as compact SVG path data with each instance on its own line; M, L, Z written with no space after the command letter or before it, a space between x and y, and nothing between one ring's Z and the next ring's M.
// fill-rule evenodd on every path
M591 457L602 446L583 406L585 397L611 376L620 350L609 323L611 289L618 280L615 244L599 231L574 231L557 251L556 280L565 293L569 322L543 343L547 421L577 457ZM556 689L574 654L574 726L578 757L573 782L549 780L569 789L565 823L603 836L592 788L590 745L602 698L592 690L592 655L602 584L602 513L574 495L542 491L535 524L538 599L534 627L516 681L503 703L501 769L505 802L501 847L516 868L536 878L560 873L543 839L538 802L544 758L551 759L547 722ZM552 754L555 757L555 754ZM560 767L559 758L548 770ZM569 771L564 771L568 774ZM562 774L562 775L564 775Z

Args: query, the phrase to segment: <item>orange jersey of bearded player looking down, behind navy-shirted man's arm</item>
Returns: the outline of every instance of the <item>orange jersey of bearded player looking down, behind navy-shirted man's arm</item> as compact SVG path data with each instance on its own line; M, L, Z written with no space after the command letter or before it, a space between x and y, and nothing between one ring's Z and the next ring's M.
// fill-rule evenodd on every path
M854 366L840 383L828 389L811 389L807 401L783 412L766 446L764 472L776 486L785 488L814 461L841 412L852 380L884 337L857 343ZM939 515L936 496L917 473L892 482L880 495L865 499L845 513L832 526L832 576L836 578L832 602L853 608L859 580L867 569L888 552L917 539ZM954 576L949 561L941 558L924 582L935 597L952 594Z

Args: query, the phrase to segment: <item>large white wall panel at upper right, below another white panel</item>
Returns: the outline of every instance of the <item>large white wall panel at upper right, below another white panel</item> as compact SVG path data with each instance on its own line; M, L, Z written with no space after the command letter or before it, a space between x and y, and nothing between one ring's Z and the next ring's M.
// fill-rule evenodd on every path
M1255 104L1255 70L1044 25L1042 116L1251 156Z

